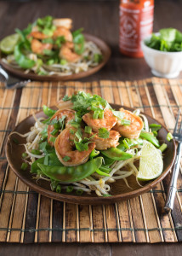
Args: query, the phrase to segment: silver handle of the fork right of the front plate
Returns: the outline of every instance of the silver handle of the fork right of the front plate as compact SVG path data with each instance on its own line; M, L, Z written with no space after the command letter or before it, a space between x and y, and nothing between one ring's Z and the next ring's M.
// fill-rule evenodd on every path
M166 205L164 209L166 210L173 210L173 202L175 199L176 195L176 183L177 179L179 176L179 167L180 167L180 159L181 159L181 146L182 143L179 143L178 148L177 148L177 154L176 154L176 159L173 165L173 172L172 172L172 177L171 177L171 182L169 184L169 189L168 189L168 195L166 199Z

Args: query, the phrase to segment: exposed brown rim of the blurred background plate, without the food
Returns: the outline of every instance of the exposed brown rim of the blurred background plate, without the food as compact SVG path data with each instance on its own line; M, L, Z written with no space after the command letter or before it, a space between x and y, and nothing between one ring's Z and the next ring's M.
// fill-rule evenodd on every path
M36 73L25 73L23 69L15 69L13 67L9 67L8 64L4 63L3 61L0 60L0 64L3 66L4 69L6 69L9 73L14 74L15 76L24 78L24 79L31 79L31 80L41 80L41 81L65 81L65 80L76 80L76 79L82 79L85 77L90 76L93 73L96 73L100 70L100 68L104 67L106 62L109 60L111 56L111 49L109 46L100 38L96 38L92 35L84 33L84 36L87 41L92 41L94 44L96 44L102 52L103 55L103 61L100 62L100 64L96 67L90 68L86 72L81 72L81 73L74 73L71 75L66 75L66 76L59 76L59 75L52 75L52 76L40 76L37 75Z

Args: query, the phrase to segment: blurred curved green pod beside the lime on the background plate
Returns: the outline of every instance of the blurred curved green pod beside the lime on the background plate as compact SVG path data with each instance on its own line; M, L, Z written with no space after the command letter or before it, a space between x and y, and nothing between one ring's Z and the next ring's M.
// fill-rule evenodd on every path
M31 68L36 62L32 61L26 55L23 55L21 52L21 48L23 47L23 43L17 44L14 48L14 59L22 68Z

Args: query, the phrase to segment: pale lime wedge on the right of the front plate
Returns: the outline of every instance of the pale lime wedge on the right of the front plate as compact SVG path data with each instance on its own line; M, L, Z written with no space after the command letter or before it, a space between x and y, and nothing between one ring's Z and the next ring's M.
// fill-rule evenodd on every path
M139 180L151 180L158 177L163 170L162 154L151 143L145 142L139 160Z

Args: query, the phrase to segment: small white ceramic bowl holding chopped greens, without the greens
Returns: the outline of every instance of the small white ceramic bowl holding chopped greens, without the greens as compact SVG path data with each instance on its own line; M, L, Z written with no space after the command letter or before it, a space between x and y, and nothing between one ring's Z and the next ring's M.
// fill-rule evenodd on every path
M158 33L156 33L157 35ZM178 77L182 71L182 51L166 52L152 49L145 45L145 40L149 40L151 36L145 38L141 42L141 48L144 53L146 63L151 67L151 73L157 77L174 79Z

